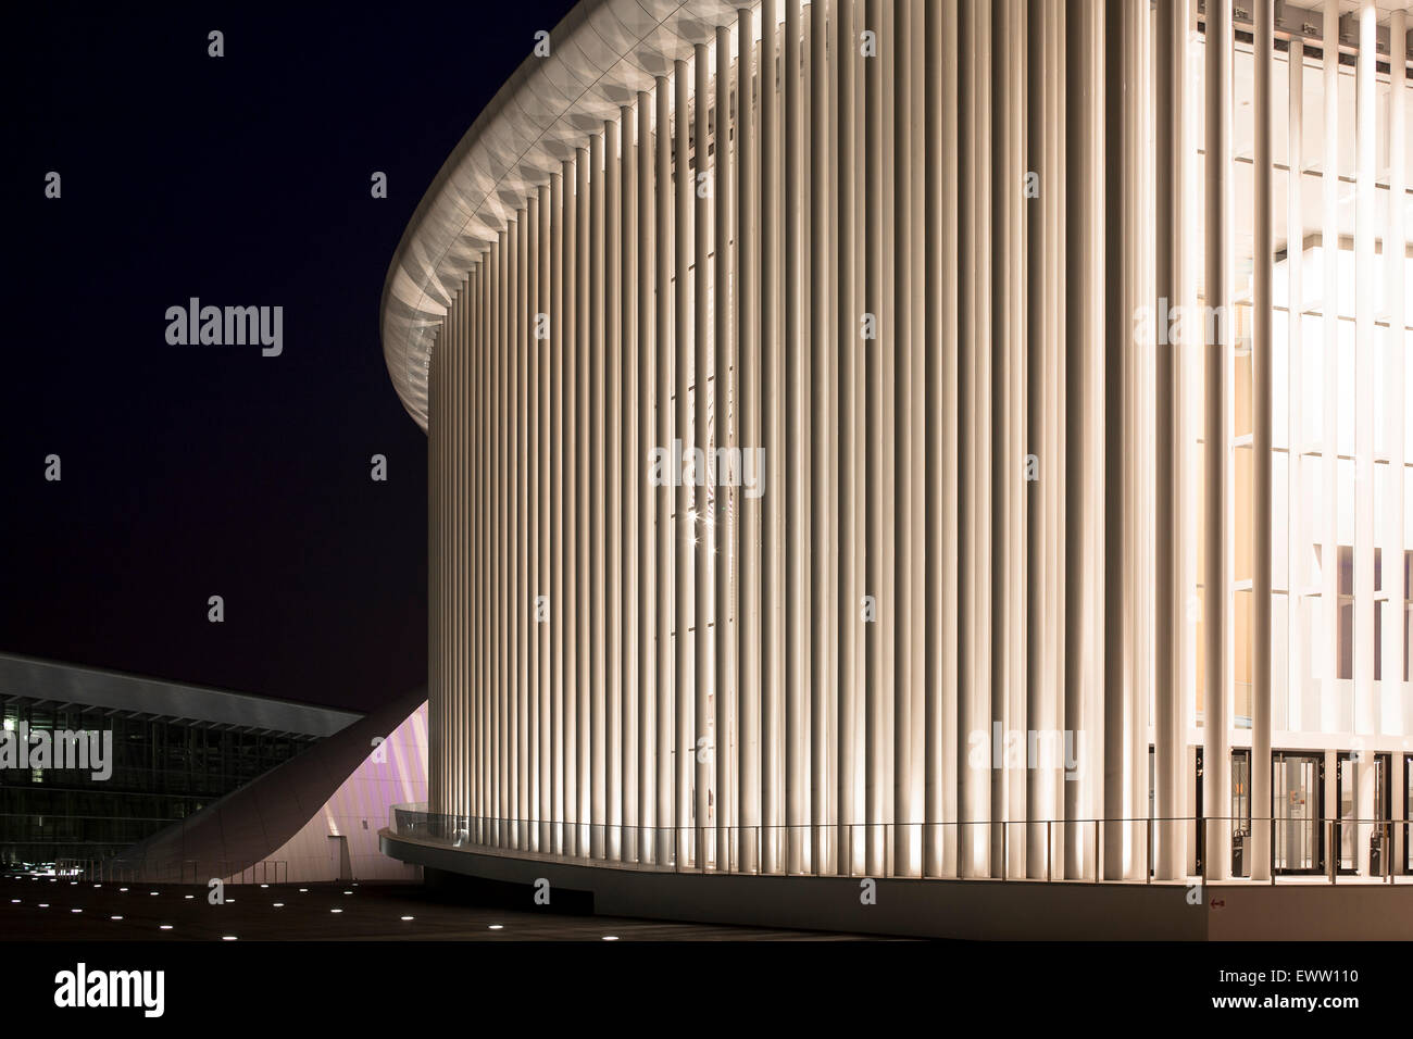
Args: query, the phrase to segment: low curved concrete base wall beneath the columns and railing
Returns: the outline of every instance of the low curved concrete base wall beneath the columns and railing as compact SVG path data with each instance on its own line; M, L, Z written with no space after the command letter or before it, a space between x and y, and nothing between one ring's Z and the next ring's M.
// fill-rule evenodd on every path
M880 879L668 874L473 854L382 835L389 855L439 872L591 892L608 916L972 940L1413 939L1413 885ZM533 888L524 891L534 909Z

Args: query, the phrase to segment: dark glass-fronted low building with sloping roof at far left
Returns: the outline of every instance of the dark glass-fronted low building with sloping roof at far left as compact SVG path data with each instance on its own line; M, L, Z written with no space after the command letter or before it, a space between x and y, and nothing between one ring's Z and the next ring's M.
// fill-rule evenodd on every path
M179 824L359 715L0 654L6 869L88 868ZM75 734L85 768L32 753ZM21 753L20 744L30 751ZM72 742L72 741L71 741ZM3 749L3 748L0 748ZM93 753L96 751L96 753ZM21 768L21 765L24 768Z

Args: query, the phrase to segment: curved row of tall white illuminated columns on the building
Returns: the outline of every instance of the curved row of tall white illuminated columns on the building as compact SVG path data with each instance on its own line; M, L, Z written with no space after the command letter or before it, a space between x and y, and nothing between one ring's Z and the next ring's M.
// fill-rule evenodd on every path
M1195 301L1198 256L1207 304L1232 312L1232 0L1208 0L1205 24L1204 242L1194 16L1191 0L1153 14L762 0L586 136L468 273L432 355L434 811L471 817L476 840L610 861L1147 875L1149 827L1119 820L1149 814L1150 729L1154 814L1190 814L1198 522L1205 759L1231 748L1234 332L1201 355L1204 322L1169 345L1135 332L1159 297ZM1258 530L1272 524L1272 41L1263 0ZM674 441L708 458L762 448L763 496L650 483L649 452ZM1270 585L1259 560L1256 816L1270 814ZM1071 775L993 761L998 732L1022 755L1029 734L1071 735ZM1229 814L1226 768L1204 792L1208 817ZM1186 871L1187 840L1154 827L1160 878ZM1256 844L1258 868L1267 854ZM1225 826L1207 855L1221 875Z

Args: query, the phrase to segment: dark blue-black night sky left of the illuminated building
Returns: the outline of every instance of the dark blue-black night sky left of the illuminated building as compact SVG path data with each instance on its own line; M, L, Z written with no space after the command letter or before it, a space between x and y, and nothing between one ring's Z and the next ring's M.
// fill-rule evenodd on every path
M569 7L7 13L0 650L355 710L425 683L427 441L383 278ZM167 345L191 297L283 307L283 353Z

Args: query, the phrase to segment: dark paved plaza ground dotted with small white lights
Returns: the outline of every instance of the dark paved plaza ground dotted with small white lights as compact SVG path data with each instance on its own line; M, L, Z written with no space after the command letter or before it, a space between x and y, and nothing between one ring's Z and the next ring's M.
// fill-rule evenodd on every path
M92 881L0 878L0 940L219 941L229 936L237 941L808 941L858 937L575 916L548 909L507 910L455 900L415 884L230 884L225 888L223 905L211 905L208 895L203 885L96 886ZM164 930L164 924L170 930Z

